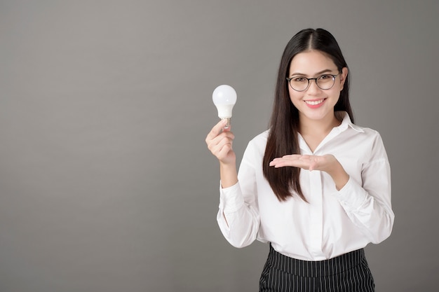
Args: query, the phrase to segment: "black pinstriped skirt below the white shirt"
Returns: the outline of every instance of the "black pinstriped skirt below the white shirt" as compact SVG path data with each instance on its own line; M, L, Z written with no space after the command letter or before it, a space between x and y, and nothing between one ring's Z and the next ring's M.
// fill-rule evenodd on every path
M297 260L270 245L259 292L374 292L364 249L320 261Z

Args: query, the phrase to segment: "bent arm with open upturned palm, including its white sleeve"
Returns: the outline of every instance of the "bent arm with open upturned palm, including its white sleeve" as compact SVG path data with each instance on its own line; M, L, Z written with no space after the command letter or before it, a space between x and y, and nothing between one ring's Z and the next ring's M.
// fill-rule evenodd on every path
M349 176L333 155L285 155L270 165L302 167L330 174L337 188L332 195L370 242L379 243L389 237L394 221L389 161L379 134L374 137L369 152L358 176Z

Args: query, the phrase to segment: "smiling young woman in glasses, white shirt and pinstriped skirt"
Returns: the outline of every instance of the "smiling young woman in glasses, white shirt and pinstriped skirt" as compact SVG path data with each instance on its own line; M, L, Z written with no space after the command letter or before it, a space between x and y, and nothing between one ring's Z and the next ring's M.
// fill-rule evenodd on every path
M379 133L353 124L332 34L304 29L286 46L269 130L239 174L225 123L205 139L219 160L217 221L233 246L269 242L259 291L374 291L363 248L391 234L389 160Z

